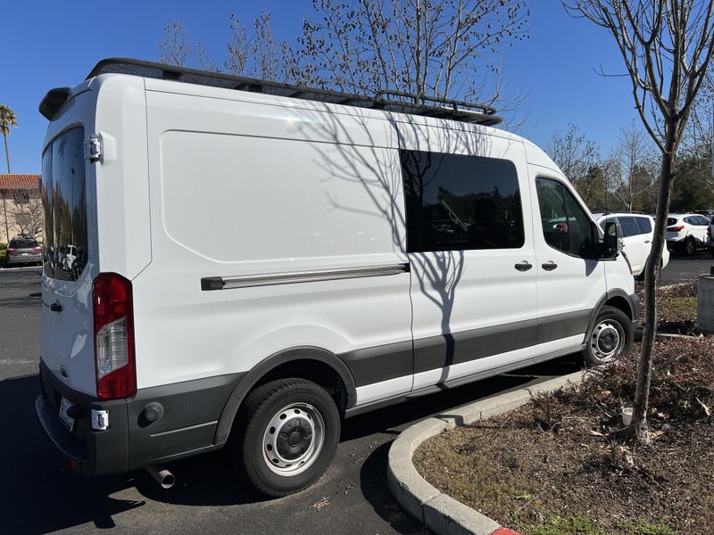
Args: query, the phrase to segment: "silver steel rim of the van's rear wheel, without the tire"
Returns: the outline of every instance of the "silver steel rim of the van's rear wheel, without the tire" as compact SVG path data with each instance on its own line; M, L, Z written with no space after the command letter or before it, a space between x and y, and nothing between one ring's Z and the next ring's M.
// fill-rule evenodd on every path
M274 473L295 475L320 456L324 440L320 412L308 403L293 403L270 419L263 434L263 459Z

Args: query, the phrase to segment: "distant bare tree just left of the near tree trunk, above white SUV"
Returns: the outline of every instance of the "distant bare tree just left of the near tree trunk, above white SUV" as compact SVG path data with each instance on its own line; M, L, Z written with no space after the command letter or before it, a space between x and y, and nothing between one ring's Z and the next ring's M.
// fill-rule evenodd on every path
M619 144L608 161L610 191L627 210L642 210L656 181L653 147L635 121L619 134Z

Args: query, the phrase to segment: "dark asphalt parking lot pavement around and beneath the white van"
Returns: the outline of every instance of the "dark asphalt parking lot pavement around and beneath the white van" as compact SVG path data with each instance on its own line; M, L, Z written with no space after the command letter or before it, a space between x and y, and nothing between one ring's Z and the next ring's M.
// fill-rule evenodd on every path
M710 264L708 254L673 257L662 284L708 273ZM249 490L222 452L168 465L177 484L162 490L145 472L90 480L59 467L34 414L40 292L39 268L0 270L2 533L423 533L386 486L394 437L426 416L580 366L577 356L560 358L347 420L328 473L294 496L269 500Z

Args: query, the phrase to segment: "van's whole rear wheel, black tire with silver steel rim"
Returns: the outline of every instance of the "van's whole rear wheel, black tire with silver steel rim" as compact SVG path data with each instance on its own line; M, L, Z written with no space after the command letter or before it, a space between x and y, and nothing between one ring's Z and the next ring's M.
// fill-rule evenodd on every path
M316 383L294 378L263 384L245 399L242 413L229 455L263 494L278 498L309 487L335 457L340 416Z

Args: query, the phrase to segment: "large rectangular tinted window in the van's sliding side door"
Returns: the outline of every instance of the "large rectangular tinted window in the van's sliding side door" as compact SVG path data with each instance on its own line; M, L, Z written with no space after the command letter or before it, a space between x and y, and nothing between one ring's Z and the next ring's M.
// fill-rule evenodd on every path
M519 249L524 243L513 162L400 151L407 251Z

